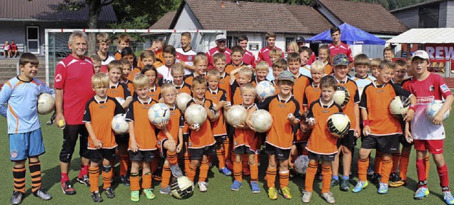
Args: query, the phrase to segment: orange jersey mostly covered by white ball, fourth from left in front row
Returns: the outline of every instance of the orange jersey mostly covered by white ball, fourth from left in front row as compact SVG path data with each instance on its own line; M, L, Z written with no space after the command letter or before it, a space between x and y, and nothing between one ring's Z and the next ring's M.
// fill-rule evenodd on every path
M187 106L196 104L194 99L187 102ZM209 110L214 113L213 102L208 99L204 99L202 106L209 107ZM211 129L211 122L208 117L204 124L200 125L199 130L191 130L189 129L189 144L188 148L204 148L206 146L211 146L216 144L216 141L213 137L213 131Z

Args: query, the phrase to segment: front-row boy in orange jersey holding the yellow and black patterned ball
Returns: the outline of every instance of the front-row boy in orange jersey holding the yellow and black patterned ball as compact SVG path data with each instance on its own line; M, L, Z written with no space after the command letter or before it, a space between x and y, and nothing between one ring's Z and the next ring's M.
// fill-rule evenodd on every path
M330 189L331 162L333 162L336 153L338 153L336 136L333 136L326 126L328 117L336 112L342 112L341 106L333 100L333 95L337 90L336 78L333 76L324 76L320 80L321 97L311 103L307 119L312 127L311 136L309 136L306 149L309 151L309 165L306 170L306 182L304 183L303 202L311 201L314 178L321 160L321 197L329 204L334 204L336 200Z

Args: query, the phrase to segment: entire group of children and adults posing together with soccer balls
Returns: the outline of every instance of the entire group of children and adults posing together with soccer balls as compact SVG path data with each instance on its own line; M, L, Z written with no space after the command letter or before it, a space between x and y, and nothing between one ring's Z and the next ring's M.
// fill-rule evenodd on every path
M210 192L209 172L217 169L231 178L226 192L302 196L303 203L320 196L328 204L340 202L331 189L364 194L377 187L387 194L406 187L407 173L416 170L417 187L407 187L411 198L436 192L440 203L454 204L443 157L443 121L454 97L428 71L429 54L418 50L396 60L385 47L382 59L353 56L341 30L330 33L332 43L318 53L304 37L276 47L275 33L265 34L257 57L245 35L228 48L220 33L216 47L197 52L192 34L182 33L180 47L156 39L136 56L127 34L110 53L108 33L97 33L96 52L88 54L88 36L76 30L67 40L70 54L51 68L53 88L36 78L38 57L21 53L20 74L0 90L13 164L11 204L26 197L27 166L33 196L50 203L65 197L61 192L77 194L74 181L88 187L94 202L198 197L194 192ZM39 119L45 115L62 136L61 192L52 196L42 186L39 159L46 151ZM71 165L77 144L80 168ZM416 166L409 163L412 149ZM79 170L77 179L70 170ZM429 192L429 170L437 172L441 192ZM289 189L292 177L302 178L301 189ZM119 196L120 185L130 194Z

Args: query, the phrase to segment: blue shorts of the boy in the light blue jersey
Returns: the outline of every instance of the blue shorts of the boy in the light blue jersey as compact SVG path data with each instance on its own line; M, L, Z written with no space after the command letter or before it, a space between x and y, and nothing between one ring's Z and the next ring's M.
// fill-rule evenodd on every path
M26 160L45 153L41 129L25 133L9 134L9 157L11 161Z

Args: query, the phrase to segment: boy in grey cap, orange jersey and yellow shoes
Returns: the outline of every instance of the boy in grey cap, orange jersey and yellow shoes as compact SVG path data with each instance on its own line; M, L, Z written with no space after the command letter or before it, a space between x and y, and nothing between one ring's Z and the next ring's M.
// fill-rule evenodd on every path
M266 98L258 105L258 109L265 109L273 116L273 126L267 132L265 153L268 156L267 187L268 197L277 199L275 180L277 165L279 163L279 187L285 199L292 199L289 185L289 157L292 149L293 131L292 126L299 124L299 103L292 95L294 77L290 71L282 71L279 74L279 93ZM250 109L249 112L254 112ZM250 115L249 115L250 116Z

